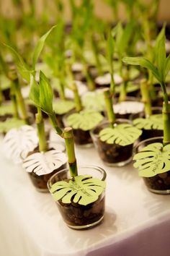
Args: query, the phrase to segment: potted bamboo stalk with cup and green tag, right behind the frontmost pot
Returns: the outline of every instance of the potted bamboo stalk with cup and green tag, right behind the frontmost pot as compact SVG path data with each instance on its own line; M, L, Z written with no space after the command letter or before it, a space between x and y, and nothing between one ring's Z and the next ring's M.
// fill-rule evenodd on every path
M116 119L112 105L112 93L104 89L108 122L93 129L91 136L99 155L107 165L124 166L132 160L133 143L141 135L140 129L133 127L130 121Z

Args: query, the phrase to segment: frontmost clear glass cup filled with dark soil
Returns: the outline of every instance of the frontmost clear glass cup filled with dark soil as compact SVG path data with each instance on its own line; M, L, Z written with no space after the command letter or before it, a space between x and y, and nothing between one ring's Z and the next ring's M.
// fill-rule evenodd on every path
M79 175L89 174L93 178L104 181L106 179L106 172L98 166L79 166ZM48 181L48 189L50 190L53 184L62 180L71 179L68 168L58 171L50 177ZM63 221L71 229L89 229L99 224L104 218L105 208L105 191L99 196L98 200L89 205L79 205L78 203L63 203L61 200L56 202L60 210Z

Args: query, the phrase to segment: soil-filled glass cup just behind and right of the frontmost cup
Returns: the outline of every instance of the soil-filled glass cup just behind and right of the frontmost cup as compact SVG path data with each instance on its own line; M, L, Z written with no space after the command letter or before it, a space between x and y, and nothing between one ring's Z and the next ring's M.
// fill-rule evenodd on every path
M116 119L116 123L131 124L128 119ZM109 127L108 121L99 124L90 132L94 146L99 153L99 157L107 166L125 166L132 161L133 144L121 146L115 143L108 144L107 142L102 142L102 140L99 139L99 132L106 127Z

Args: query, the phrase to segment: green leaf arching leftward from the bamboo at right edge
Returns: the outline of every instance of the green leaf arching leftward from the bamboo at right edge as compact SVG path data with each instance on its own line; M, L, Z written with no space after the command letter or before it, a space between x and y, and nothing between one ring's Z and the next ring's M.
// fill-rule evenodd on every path
M138 66L145 67L146 69L151 70L154 77L156 77L156 79L159 82L162 82L161 77L158 73L158 69L156 69L156 67L148 59L143 58L143 57L124 57L122 59L122 61L127 63L127 64L138 65Z

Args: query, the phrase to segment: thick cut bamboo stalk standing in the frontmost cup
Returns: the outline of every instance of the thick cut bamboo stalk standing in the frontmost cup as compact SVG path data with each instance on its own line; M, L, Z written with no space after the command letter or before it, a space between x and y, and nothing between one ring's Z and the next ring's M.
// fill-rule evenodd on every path
M68 166L71 177L78 175L76 155L74 150L74 140L73 140L73 129L71 127L66 127L63 132L63 138L66 143L66 151L68 155Z

